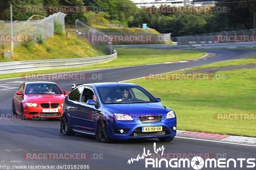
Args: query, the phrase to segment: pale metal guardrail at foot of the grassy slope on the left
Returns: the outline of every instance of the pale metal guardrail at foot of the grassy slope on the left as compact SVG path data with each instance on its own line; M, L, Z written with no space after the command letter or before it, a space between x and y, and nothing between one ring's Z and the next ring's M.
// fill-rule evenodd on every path
M77 67L101 62L111 61L117 58L117 52L99 57L86 57L74 59L54 59L54 60L27 60L11 61L0 63L0 74L19 73L25 71L35 71L47 68Z

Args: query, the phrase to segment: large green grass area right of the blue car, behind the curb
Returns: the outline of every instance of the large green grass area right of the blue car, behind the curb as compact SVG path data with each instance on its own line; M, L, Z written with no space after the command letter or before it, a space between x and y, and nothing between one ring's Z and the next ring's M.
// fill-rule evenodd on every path
M214 63L198 68L255 64L256 57ZM189 70L193 70L189 69ZM175 73L185 73L178 71ZM161 97L177 114L178 130L256 137L256 120L215 120L218 113L256 113L256 69L217 72L227 80L146 80L133 82Z

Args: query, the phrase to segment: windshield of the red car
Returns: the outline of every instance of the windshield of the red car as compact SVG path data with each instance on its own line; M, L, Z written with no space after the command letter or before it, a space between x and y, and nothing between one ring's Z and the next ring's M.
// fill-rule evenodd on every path
M56 84L29 84L25 94L63 94Z

